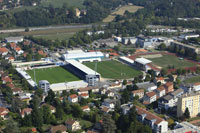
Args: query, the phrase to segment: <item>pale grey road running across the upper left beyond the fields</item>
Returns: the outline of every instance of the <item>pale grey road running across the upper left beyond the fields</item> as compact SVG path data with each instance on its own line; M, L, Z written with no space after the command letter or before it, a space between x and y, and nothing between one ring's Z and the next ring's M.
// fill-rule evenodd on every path
M102 24L101 26L105 26ZM87 25L59 25L59 26L45 26L45 27L30 27L30 31L36 30L53 30L53 29L73 29L73 28L91 28L92 24ZM13 33L13 32L24 32L25 28L19 29L7 29L7 30L0 30L0 33Z

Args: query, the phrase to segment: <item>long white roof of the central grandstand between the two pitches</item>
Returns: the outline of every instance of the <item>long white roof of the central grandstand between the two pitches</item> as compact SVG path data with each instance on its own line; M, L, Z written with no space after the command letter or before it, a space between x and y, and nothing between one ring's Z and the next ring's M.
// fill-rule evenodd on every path
M73 65L74 67L80 69L81 71L85 72L87 75L94 75L95 71L92 70L91 68L79 63L76 60L67 60L68 63L70 63L71 65ZM96 75L100 75L99 73L96 72Z

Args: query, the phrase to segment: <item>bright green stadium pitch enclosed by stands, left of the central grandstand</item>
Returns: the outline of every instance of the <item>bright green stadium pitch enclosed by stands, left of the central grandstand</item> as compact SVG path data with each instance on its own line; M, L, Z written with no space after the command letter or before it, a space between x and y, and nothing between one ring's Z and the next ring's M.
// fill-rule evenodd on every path
M34 80L34 71L26 71ZM35 69L36 81L48 80L50 84L80 80L78 77L62 67Z

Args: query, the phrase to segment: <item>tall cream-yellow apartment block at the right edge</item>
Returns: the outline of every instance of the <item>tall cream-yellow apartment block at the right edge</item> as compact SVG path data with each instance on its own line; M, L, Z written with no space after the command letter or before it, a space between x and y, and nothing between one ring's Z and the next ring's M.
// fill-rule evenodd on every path
M178 99L177 116L181 117L186 108L189 109L190 117L196 117L200 113L200 93L190 92Z

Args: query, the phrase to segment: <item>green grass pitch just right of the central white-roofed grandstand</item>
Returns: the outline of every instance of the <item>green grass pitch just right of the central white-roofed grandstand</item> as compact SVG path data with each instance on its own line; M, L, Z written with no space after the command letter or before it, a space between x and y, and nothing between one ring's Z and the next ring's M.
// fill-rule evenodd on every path
M94 62L87 62L84 64L91 69L95 68ZM100 73L102 77L110 79L128 79L142 74L140 71L115 60L98 62L97 72Z

